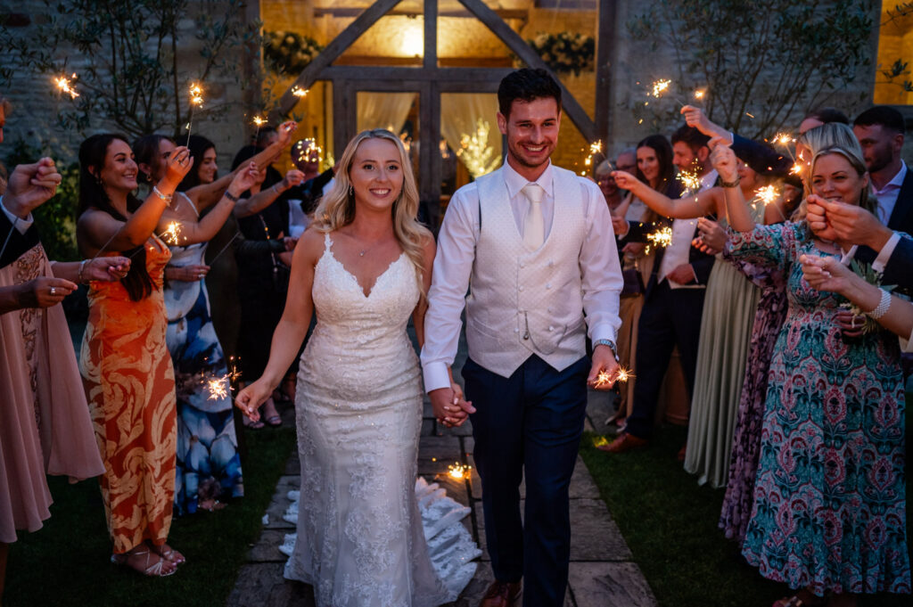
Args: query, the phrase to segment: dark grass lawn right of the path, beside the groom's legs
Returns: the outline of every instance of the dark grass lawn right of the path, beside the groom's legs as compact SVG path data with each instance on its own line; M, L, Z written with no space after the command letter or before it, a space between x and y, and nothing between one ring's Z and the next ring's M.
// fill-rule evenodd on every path
M761 578L723 537L717 527L723 489L698 487L676 459L686 436L686 428L667 426L645 449L607 455L586 434L581 455L660 605L767 607L788 589ZM890 594L859 602L909 604L909 595Z

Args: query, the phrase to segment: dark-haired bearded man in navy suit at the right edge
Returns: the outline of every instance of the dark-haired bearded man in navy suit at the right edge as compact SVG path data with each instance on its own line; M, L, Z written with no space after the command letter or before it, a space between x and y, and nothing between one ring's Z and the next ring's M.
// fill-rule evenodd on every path
M853 132L878 199L878 219L892 230L913 233L913 172L900 158L904 126L899 111L882 105L859 114Z

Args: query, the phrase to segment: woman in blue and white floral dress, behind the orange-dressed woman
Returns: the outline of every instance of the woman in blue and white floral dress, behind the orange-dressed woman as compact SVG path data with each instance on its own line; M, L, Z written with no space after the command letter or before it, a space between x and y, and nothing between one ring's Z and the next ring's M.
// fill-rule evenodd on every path
M197 136L192 135L191 139L194 137ZM201 147L199 140L194 143ZM203 159L202 169L213 178L214 156L215 150L206 148L197 150L194 157ZM200 168L194 165L194 172L199 174ZM166 342L177 387L174 511L179 516L193 514L198 508L223 508L219 497L244 495L234 407L226 388L228 369L209 316L209 297L203 281L208 267L203 256L208 240L237 211L239 195L256 177L257 165L250 163L247 170L236 174L222 200L202 217L189 196L176 192L178 204L166 209L158 224L160 232L175 223L181 228L169 242L172 257L165 267L163 291L168 315ZM214 390L213 382L226 389Z

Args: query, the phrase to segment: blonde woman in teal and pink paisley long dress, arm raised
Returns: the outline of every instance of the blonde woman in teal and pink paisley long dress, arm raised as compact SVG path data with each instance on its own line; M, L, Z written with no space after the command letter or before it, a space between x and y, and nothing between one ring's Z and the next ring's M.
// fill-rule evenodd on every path
M716 142L714 142L716 143ZM735 157L713 152L724 181ZM871 207L859 149L832 147L812 162L815 196ZM747 225L744 199L727 188L730 225ZM741 219L740 219L741 217ZM855 605L860 593L910 592L905 532L904 392L897 338L861 329L846 299L810 288L804 254L840 256L852 243L805 222L730 236L735 259L782 272L788 311L774 346L754 506L743 556L787 583L788 605ZM824 598L826 597L826 600Z

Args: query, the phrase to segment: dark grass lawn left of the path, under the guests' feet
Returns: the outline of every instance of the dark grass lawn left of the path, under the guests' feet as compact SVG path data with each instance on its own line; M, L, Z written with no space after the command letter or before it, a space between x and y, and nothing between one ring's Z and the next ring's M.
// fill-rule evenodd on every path
M169 543L187 563L167 578L145 578L110 563L98 482L50 477L51 518L12 544L5 607L224 605L295 445L295 430L247 432L245 497L228 508L175 518Z

